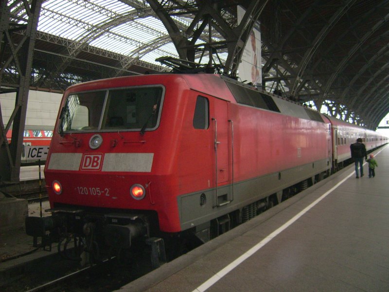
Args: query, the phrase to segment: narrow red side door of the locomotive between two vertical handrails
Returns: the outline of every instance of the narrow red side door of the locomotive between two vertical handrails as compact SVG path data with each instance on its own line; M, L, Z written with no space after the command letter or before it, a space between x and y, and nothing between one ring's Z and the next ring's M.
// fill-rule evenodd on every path
M229 181L229 119L228 103L225 100L213 99L213 114L211 114L211 127L214 131L215 151L215 196L213 206L221 206L232 201L229 186L222 186Z

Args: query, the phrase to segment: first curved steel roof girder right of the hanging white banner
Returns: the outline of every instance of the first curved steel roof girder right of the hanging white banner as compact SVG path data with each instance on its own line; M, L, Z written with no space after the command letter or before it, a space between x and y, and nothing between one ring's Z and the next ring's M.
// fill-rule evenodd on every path
M355 0L348 0L342 7L340 7L336 13L329 19L327 22L327 25L324 26L321 31L318 33L314 41L312 42L312 45L310 48L305 52L300 64L299 69L296 75L295 82L293 84L293 87L291 89L291 94L294 96L296 94L296 89L301 82L302 75L305 71L306 66L308 65L309 61L312 59L312 57L315 55L316 50L323 42L324 38L327 36L327 34L331 31L331 29L335 26L336 22L342 18L342 16L349 10L349 8L354 4ZM325 91L327 92L327 91Z

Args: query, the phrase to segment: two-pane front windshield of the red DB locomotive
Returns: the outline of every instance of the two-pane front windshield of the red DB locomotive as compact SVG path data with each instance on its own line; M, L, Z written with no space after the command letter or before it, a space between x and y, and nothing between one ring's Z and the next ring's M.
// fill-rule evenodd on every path
M164 89L134 87L74 93L61 111L61 132L155 129Z

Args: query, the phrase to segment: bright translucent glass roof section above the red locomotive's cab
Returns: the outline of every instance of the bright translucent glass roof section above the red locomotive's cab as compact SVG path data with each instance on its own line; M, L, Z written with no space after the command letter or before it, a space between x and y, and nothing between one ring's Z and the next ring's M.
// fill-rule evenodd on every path
M135 0L46 0L42 4L38 30L75 41L87 41L91 46L152 64L160 65L155 59L161 56L178 57L163 23L154 15L148 15L149 12L138 13L130 6L132 1L149 9L145 1ZM193 21L189 15L175 15L172 19L182 30ZM207 33L208 28L196 44L206 43ZM218 32L212 30L212 41L221 39ZM208 62L206 55L202 63ZM227 54L219 57L225 60Z

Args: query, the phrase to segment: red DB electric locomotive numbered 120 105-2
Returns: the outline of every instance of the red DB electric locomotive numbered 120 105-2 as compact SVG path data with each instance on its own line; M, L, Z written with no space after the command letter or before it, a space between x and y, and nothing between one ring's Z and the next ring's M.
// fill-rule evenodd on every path
M216 74L74 85L45 165L53 216L27 218L27 233L207 241L326 176L332 147L330 118Z

